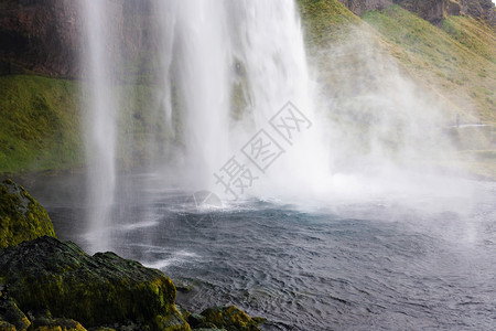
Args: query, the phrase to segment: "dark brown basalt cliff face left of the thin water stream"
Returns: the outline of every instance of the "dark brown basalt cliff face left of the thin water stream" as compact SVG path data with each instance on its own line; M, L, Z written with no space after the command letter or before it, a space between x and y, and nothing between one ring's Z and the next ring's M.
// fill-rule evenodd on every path
M0 73L51 76L78 72L77 1L0 1Z

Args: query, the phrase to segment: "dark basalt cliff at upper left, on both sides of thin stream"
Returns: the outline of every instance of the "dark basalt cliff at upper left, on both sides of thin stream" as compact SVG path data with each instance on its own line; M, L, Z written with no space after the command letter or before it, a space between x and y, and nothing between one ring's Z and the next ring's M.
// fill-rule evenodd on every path
M109 51L116 63L136 63L141 50L153 51L150 0L112 0L109 25L120 31ZM85 22L82 0L0 0L0 74L34 72L78 77Z

